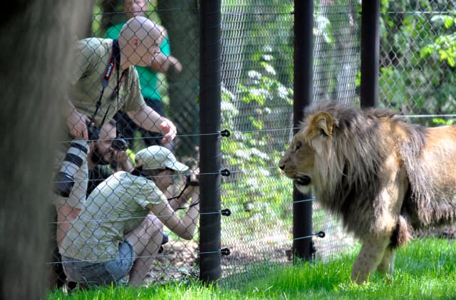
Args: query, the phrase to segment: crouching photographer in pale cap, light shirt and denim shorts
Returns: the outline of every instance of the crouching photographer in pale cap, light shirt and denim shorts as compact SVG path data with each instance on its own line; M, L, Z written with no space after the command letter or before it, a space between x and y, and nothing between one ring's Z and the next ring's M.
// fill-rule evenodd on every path
M155 145L136 153L132 172L115 172L100 183L63 238L68 279L110 285L129 274L128 284L140 286L156 263L164 226L192 239L199 217L199 171L190 172L180 195L165 196L175 174L188 169L170 150ZM190 199L180 217L176 211Z

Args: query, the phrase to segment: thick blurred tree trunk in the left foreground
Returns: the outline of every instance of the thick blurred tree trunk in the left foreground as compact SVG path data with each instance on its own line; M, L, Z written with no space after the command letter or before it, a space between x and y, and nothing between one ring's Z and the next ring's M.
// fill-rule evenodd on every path
M22 3L24 2L24 3ZM91 1L13 1L0 24L1 299L43 299L51 169L71 46Z

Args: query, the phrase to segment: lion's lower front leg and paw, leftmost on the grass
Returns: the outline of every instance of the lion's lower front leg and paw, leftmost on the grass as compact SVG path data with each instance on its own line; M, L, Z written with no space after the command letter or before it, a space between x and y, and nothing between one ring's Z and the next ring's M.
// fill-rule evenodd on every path
M353 268L351 269L351 280L356 281L357 284L366 282L368 276L383 261L389 242L388 237L385 237L385 239L366 239L363 241L361 251L358 257L356 257Z

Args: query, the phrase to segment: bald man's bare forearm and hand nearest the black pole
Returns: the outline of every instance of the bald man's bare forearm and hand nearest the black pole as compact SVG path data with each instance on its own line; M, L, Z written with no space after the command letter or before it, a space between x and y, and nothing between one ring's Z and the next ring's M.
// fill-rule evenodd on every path
M139 110L129 111L127 114L130 119L145 130L163 133L164 143L169 143L176 137L176 126L147 105L142 106Z

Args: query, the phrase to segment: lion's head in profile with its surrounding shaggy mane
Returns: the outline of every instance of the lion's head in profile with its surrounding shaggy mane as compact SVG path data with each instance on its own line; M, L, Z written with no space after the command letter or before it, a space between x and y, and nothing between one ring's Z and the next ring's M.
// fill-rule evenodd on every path
M391 155L383 122L394 114L332 102L311 105L279 167L299 190L313 187L331 207L345 205L350 192L374 197L378 172Z

